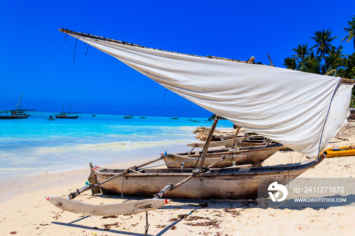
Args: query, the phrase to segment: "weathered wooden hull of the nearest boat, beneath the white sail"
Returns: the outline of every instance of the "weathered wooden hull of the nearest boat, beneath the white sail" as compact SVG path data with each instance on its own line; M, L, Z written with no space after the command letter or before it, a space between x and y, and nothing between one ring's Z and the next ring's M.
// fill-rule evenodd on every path
M211 169L192 178L175 190L165 193L164 198L210 200L267 197L267 188L271 183L277 182L285 185L323 159L324 156L322 155L317 160L298 167ZM99 182L122 171L94 168ZM176 184L190 176L191 171L192 169L144 169L141 173L131 172L123 177L123 194L125 196L152 198L167 184ZM115 178L100 187L103 194L121 195L122 178Z

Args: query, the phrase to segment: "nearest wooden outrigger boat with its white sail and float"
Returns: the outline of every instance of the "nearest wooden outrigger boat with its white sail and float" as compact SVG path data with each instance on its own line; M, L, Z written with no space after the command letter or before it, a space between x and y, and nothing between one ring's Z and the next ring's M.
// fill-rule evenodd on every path
M162 199L165 195L194 199L255 198L256 189L268 190L270 181L287 184L291 176L297 177L319 164L325 156L319 153L346 120L353 80L258 65L252 60L241 62L155 50L101 36L59 30L114 56L235 125L315 159L295 166L216 169L215 165L226 159L222 156L206 167L210 132L196 169L142 169L162 158L126 170L94 167L92 171L99 183L88 183L66 199L48 198L52 204L67 211L86 215L145 212L168 204L171 200ZM123 178L118 181L120 176ZM127 195L149 197L155 194L152 199L110 206L73 201L82 192L97 187L111 194L120 194L122 190ZM266 194L263 192L261 196ZM147 229L148 226L146 232Z

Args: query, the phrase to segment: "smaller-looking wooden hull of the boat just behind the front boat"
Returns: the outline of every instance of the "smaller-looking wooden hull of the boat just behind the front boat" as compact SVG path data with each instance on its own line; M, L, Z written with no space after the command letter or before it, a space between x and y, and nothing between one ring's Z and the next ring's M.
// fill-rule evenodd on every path
M208 151L207 156L204 161L204 165L208 166L216 161L220 160L223 155L226 156L234 156L241 155L240 159L237 161L223 161L216 165L216 168L224 168L230 166L239 166L239 165L248 165L248 164L258 164L266 159L268 159L271 155L273 155L276 151L278 151L282 144L274 144L268 146L260 146L260 147L245 147L239 148L240 150L234 151ZM201 151L196 151L188 156L188 153L179 153L179 154L167 154L163 156L163 160L168 168L181 168L181 163L184 162L184 168L195 168L198 167L200 160L196 160L199 158ZM245 157L242 157L245 155ZM196 164L197 162L197 164Z

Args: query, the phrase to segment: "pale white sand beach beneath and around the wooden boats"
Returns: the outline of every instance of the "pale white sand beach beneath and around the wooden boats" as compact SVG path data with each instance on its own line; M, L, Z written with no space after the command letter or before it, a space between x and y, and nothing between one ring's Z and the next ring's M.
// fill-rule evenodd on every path
M346 127L329 146L355 144L355 129ZM291 154L290 154L291 153ZM299 160L297 152L277 152L263 166ZM303 158L305 159L305 158ZM117 165L117 168L131 164ZM2 188L0 204L1 235L144 235L146 213L115 217L85 216L60 210L46 201L48 196L66 196L85 185L89 168L47 173L24 183ZM353 178L355 156L327 158L300 177ZM11 180L9 180L11 183ZM177 189L176 189L177 190ZM11 196L7 193L13 192ZM91 204L117 203L131 198L102 198L91 191L77 201ZM135 200L136 198L134 198ZM208 206L200 204L207 202ZM303 209L253 208L253 201L175 200L149 212L148 235L275 235L275 234L352 234L355 208L349 206Z

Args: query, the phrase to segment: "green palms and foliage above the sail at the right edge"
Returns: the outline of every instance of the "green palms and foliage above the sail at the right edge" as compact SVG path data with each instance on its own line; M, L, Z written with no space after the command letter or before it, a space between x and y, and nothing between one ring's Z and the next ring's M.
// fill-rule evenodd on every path
M351 17L351 21L347 23L349 27L344 28L344 30L348 35L341 42L349 43L353 40L355 50L355 16ZM337 37L332 36L332 30L315 31L314 36L310 36L310 38L314 40L315 45L308 47L307 44L299 44L297 48L292 49L296 54L285 58L283 65L286 68L343 78L355 78L355 53L348 56L343 54L343 46L333 46L331 43ZM354 97L355 88L352 90L351 105L354 103Z

